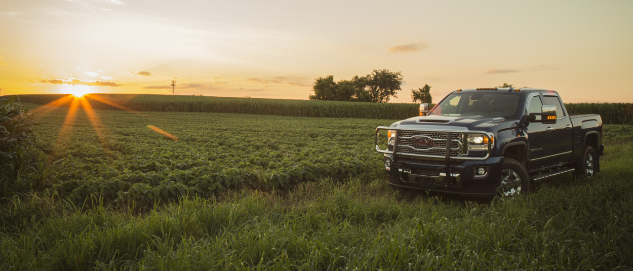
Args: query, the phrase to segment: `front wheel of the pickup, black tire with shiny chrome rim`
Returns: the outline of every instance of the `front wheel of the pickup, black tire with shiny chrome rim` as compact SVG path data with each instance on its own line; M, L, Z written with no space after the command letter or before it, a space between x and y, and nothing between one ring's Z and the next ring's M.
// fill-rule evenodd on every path
M530 175L522 163L512 158L503 159L498 192L502 197L530 192Z

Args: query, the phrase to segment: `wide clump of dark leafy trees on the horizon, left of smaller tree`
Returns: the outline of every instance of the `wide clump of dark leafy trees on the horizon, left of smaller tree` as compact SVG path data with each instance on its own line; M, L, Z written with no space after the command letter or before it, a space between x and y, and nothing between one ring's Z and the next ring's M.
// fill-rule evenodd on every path
M387 103L391 96L398 98L396 92L401 91L404 82L401 72L389 70L373 70L372 73L359 77L355 75L350 80L334 82L334 77L319 77L315 79L310 95L313 100L327 101L363 101L370 103Z

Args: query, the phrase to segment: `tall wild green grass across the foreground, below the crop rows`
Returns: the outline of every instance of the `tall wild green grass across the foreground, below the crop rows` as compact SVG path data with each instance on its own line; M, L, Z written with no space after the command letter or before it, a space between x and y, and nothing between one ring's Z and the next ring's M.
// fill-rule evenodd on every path
M487 205L394 192L379 175L243 189L149 213L97 198L65 211L54 199L23 200L1 210L19 227L0 232L0 269L631 270L631 151L608 144L596 178L567 175ZM22 213L37 209L28 204L56 215L33 220Z

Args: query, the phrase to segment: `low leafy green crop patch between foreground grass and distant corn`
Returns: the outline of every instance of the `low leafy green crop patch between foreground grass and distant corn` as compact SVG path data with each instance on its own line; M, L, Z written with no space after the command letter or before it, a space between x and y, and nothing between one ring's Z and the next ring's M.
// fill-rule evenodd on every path
M53 150L42 159L58 161L49 164L44 187L78 202L96 193L110 203L146 205L379 170L373 130L392 122L97 110L101 123L93 127L78 110L74 123L60 129L67 111L56 108L38 120L41 148Z

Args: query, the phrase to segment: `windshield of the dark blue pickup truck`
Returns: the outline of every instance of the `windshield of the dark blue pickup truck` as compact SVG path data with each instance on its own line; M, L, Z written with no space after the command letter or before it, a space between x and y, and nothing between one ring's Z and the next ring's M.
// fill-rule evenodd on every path
M517 94L464 93L444 98L429 115L467 117L474 115L516 119L520 96Z

